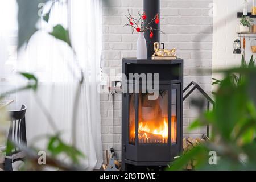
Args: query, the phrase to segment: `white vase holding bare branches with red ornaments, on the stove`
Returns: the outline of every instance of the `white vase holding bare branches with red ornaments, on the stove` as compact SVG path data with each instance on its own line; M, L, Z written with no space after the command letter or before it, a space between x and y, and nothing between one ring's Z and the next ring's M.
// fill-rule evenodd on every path
M132 27L132 33L135 30L139 33L137 40L137 59L147 59L147 44L146 39L144 38L144 32L150 31L150 38L153 38L154 31L160 31L158 29L152 28L151 26L152 23L158 24L160 22L159 15L156 14L153 19L148 21L146 13L141 14L138 11L139 18L134 18L134 16L131 16L129 10L128 14L129 16L126 15L126 18L129 20L129 24L125 24L124 26Z

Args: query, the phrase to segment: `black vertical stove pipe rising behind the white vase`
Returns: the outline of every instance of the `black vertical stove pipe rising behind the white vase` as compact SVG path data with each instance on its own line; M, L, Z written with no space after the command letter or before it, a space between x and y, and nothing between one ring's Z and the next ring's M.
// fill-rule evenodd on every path
M158 14L160 18L160 0L143 0L143 11L147 16L146 23L149 23L156 14ZM158 24L155 22L151 23L151 27L160 30L160 22ZM160 32L154 30L153 33L153 38L150 38L150 30L144 32L144 36L147 42L147 59L151 59L155 52L153 47L154 42L160 42Z

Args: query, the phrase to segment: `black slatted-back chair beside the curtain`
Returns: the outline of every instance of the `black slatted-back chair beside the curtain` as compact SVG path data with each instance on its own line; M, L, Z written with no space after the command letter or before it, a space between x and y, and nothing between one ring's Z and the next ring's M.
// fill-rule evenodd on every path
M24 160L25 155L19 146L27 146L26 114L27 106L22 105L21 110L10 111L10 129L6 146L5 170L13 171L13 162Z

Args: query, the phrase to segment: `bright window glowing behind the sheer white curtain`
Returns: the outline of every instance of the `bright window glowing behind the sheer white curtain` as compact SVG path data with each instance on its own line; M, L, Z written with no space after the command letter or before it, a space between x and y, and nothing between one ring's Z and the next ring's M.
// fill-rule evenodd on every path
M47 3L43 14L47 13L53 1L55 0ZM19 60L17 60L16 53L18 32L16 0L9 0L5 6L0 6L2 22L0 39L5 39L4 41L1 39L0 43L2 45L5 43L0 52L0 79L10 79L14 77L15 71L24 71L34 73L40 82L73 81L74 78L80 76L74 59L78 59L76 61L84 68L85 77L88 81L91 80L90 75L100 74L100 61L99 64L93 63L95 57L97 57L96 60L99 60L101 55L101 37L98 34L101 31L101 22L96 21L100 18L100 10L92 11L92 9L96 9L96 6L99 5L92 0L60 0L56 2L52 7L48 24L44 22L43 17L39 20L37 27L42 31L38 31L32 36L26 51L20 53ZM42 9L42 6L39 6L38 9ZM51 27L56 24L71 29L71 38L75 44L76 52L79 52L78 57L74 58L67 44L47 34L46 31L51 31ZM78 36L81 37L77 38ZM2 53L5 48L7 59L4 59L3 55L5 54ZM75 77L73 77L72 72Z

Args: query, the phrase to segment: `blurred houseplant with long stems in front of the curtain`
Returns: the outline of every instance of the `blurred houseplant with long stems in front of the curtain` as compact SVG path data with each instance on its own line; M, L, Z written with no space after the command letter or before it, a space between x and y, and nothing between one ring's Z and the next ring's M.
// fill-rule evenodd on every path
M30 1L30 0L16 0L18 5L18 23L19 23L19 30L18 30L18 51L20 48L22 48L24 45L28 43L28 40L30 40L31 36L34 35L38 30L35 28L36 23L38 22L38 19L40 18L39 12L38 12L38 5L40 3L47 3L50 2L49 0L36 0L36 1ZM52 5L56 2L60 2L59 0L53 1ZM64 2L63 2L64 3ZM48 10L48 13L46 16L44 16L43 20L44 23L48 23L49 20L49 14L51 13L51 10L53 9L53 6L51 5L51 8ZM69 37L69 31L68 29L65 29L61 24L57 24L54 27L52 27L52 30L47 32L49 35L53 36L54 38L61 40L71 48L71 51L74 52L74 56L76 57L76 52L72 47L71 39ZM78 63L77 61L74 61L74 64ZM68 63L67 63L68 64ZM19 150L22 150L22 152L26 155L26 165L24 166L23 170L31 170L31 169L44 169L47 166L51 167L57 167L59 169L64 170L81 170L84 169L84 166L80 165L81 159L85 158L85 155L82 154L81 151L77 149L76 142L76 121L78 120L76 118L76 111L78 110L77 107L79 105L77 104L77 100L79 100L80 97L80 88L81 85L84 83L84 74L82 73L82 69L80 66L77 66L79 68L79 73L81 74L81 77L77 78L77 81L79 81L79 84L77 84L77 92L75 94L75 99L73 100L73 112L72 112L72 125L71 125L71 134L72 134L72 143L66 143L62 139L62 132L56 127L51 113L49 113L48 108L46 108L42 101L39 100L37 97L36 103L40 107L40 109L43 111L44 115L46 116L46 121L51 126L51 130L53 131L50 135L42 135L35 139L34 143L31 143L31 146L26 146L23 143L14 143L12 141L10 142L10 146L6 148L7 150L11 150L13 147L18 147ZM27 78L26 85L15 87L13 90L7 90L7 92L0 92L0 100L5 98L6 96L9 96L11 93L18 93L20 91L24 90L32 90L33 92L37 92L38 90L38 78L36 78L35 75L28 72L19 72L19 75L23 76L24 78ZM2 91L2 90L1 90ZM5 117L6 116L6 117ZM6 122L9 124L9 119L6 119L8 117L7 111L4 109L0 109L0 140L2 140L2 143L7 143L6 134L9 130L9 125L3 125ZM6 127L7 126L7 127ZM40 149L38 147L35 147L35 143L38 142L40 139L45 139L46 141L46 165L39 165L39 156L37 155ZM63 159L60 159L60 156L65 157L65 161Z

